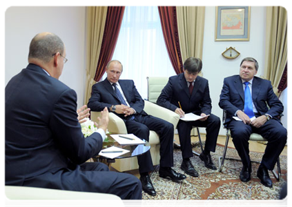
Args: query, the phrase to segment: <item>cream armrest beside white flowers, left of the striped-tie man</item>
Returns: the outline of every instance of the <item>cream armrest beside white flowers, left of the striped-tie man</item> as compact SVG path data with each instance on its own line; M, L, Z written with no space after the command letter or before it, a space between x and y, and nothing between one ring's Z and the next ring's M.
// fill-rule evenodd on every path
M101 112L90 112L90 119L97 122L97 117L101 115ZM113 112L108 113L110 121L108 122L108 131L117 134L128 134L126 124L123 119L119 118ZM98 123L98 122L97 122Z

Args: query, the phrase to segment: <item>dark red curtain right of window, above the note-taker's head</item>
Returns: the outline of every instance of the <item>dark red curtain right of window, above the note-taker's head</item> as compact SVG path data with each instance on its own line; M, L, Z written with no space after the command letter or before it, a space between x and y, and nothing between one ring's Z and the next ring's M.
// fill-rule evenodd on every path
M176 6L158 6L158 11L168 56L176 74L182 73L183 64L179 48Z

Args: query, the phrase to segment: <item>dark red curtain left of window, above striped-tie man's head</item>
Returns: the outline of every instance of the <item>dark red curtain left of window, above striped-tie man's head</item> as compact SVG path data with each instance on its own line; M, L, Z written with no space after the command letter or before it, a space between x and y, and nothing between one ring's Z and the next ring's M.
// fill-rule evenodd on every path
M100 55L95 72L95 81L99 81L106 72L106 64L112 59L119 37L121 21L123 20L126 6L108 6L106 24L104 26L104 37L102 38Z

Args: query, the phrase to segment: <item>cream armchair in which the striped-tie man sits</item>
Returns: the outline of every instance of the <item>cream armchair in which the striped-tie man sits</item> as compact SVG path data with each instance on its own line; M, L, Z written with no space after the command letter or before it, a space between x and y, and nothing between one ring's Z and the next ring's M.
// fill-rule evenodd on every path
M177 127L177 123L179 121L179 115L177 115L175 112L168 110L166 108L163 108L161 106L158 106L155 103L151 103L150 101L144 101L144 111L148 115L153 115L155 117L158 117L160 119L164 119L171 124L173 124L175 128ZM97 121L97 117L99 117L100 112L91 112L90 119L93 121ZM126 125L123 121L123 119L119 118L117 115L115 115L113 112L109 113L110 117L110 123L108 124L108 131L117 133L117 134L128 134ZM159 142L159 136L156 132L150 130L149 135L149 143L150 143L150 153L153 161L153 165L159 164L159 148L160 148L160 142ZM135 170L139 168L137 157L130 157L126 159L116 159L115 163L111 164L113 168L118 170L119 172L124 172L127 170Z

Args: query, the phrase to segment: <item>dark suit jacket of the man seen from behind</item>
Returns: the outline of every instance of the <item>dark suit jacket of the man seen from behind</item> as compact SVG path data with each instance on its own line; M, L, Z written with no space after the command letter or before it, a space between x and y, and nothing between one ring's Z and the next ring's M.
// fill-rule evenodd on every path
M4 185L51 172L44 186L62 189L54 173L74 170L101 150L102 138L84 139L77 120L76 92L34 64L14 76L4 90ZM76 172L75 182L78 178ZM65 175L63 175L65 176ZM79 185L79 184L78 184Z

